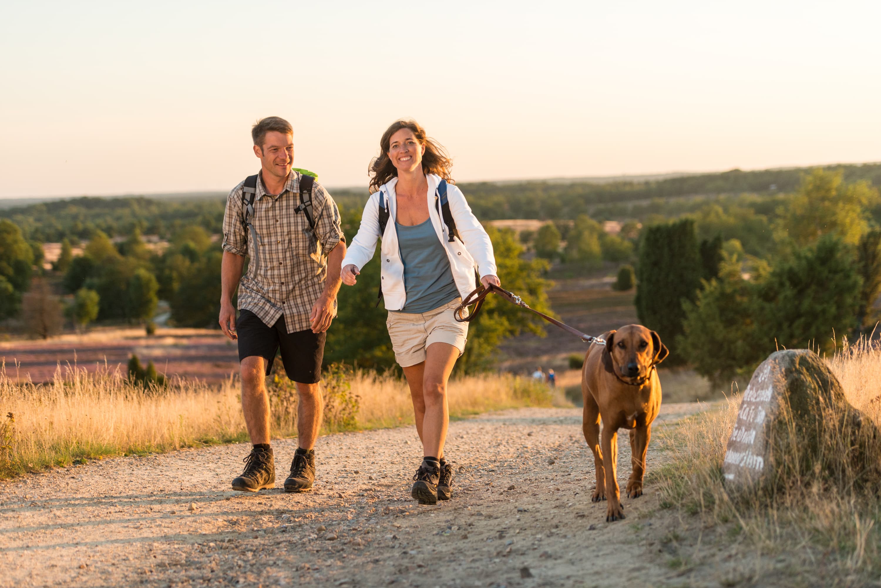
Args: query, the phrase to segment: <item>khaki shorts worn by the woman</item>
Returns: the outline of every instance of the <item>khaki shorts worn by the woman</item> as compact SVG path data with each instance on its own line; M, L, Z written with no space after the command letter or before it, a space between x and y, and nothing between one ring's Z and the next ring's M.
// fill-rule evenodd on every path
M453 311L461 303L462 299L456 297L428 312L389 311L386 326L395 359L402 368L426 361L426 349L432 343L448 343L458 349L462 357L468 340L468 323L459 323L453 317Z

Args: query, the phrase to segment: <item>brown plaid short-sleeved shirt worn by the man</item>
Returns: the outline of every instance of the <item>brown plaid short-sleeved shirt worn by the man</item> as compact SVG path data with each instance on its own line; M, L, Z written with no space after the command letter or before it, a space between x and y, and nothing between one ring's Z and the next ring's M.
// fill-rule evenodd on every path
M250 259L248 272L239 283L239 309L250 310L268 326L284 315L287 332L305 331L311 328L312 306L324 290L327 253L345 239L337 203L315 182L313 233L306 214L295 210L300 205L300 172L291 171L285 190L275 197L266 192L258 176L251 220L258 237L255 243L245 224L244 183L226 198L223 219L224 251ZM259 250L255 252L255 248Z

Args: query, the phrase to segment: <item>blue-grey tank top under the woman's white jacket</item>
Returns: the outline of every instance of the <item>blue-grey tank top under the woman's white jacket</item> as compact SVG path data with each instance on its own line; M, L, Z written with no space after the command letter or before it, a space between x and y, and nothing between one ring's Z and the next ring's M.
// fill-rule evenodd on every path
M428 312L459 296L447 251L434 232L432 220L407 227L395 222L403 262L403 288L407 302L398 312Z

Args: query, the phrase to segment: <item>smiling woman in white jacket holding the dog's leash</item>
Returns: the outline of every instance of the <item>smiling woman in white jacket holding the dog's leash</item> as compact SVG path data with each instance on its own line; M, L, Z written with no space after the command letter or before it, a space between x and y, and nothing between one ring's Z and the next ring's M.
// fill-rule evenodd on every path
M370 166L374 191L343 259L343 283L355 284L381 237L386 325L410 386L424 455L411 493L420 504L435 504L452 495L453 467L443 452L447 381L468 335L468 323L457 323L453 310L476 287L475 269L484 286L500 282L492 242L452 185L452 162L441 145L418 123L401 120L382 134L380 147Z

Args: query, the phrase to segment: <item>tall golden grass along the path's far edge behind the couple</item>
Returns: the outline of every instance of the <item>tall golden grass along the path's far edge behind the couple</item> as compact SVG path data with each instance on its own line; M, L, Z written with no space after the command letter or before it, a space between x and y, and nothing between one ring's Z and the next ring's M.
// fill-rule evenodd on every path
M355 371L344 390L353 418L341 420L339 398L326 402L325 432L395 427L412 422L406 384L391 375ZM334 393L334 390L325 390ZM515 376L467 376L450 382L453 417L515 406L550 406L542 384ZM0 478L109 455L167 451L244 441L237 378L221 385L174 380L144 389L119 368L88 372L59 367L50 383L17 383L0 368ZM270 395L275 436L295 435L290 406ZM283 414L284 413L284 414ZM4 416L5 415L5 416Z

